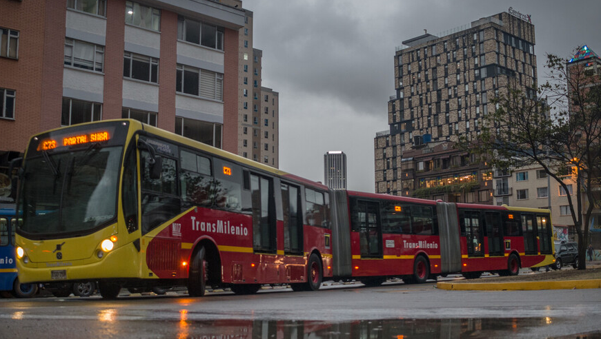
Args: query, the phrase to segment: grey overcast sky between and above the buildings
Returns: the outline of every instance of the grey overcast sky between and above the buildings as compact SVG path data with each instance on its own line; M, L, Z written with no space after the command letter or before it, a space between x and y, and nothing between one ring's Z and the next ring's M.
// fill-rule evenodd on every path
M388 130L401 42L469 25L509 7L535 26L538 79L546 53L601 54L600 0L244 0L263 85L279 92L279 168L324 180L324 154L346 153L348 189L374 192L373 139Z

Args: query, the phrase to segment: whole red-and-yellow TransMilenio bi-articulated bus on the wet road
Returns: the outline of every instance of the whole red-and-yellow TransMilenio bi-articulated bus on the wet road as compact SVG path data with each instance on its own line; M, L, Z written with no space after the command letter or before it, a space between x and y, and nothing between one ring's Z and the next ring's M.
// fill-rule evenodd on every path
M97 281L104 298L422 283L553 261L548 210L332 191L134 120L37 134L21 165L21 281Z

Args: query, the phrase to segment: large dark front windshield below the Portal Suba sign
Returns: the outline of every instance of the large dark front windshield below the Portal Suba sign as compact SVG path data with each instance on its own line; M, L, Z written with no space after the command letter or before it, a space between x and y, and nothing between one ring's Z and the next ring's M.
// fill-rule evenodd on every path
M123 147L88 147L28 158L21 187L21 232L58 236L87 232L117 215Z

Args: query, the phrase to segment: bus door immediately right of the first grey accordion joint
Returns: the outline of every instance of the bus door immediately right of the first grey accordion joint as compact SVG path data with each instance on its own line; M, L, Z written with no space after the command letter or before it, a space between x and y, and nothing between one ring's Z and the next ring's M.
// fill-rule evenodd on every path
M378 203L357 201L359 244L362 258L382 258L382 225Z

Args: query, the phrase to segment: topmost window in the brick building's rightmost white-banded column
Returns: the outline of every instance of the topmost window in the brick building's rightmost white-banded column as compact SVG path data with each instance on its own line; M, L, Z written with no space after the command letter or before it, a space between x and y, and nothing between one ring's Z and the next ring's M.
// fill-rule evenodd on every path
M224 50L224 28L184 18L181 15L177 17L177 39Z

